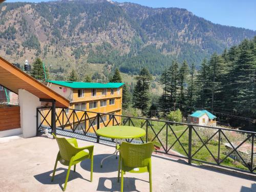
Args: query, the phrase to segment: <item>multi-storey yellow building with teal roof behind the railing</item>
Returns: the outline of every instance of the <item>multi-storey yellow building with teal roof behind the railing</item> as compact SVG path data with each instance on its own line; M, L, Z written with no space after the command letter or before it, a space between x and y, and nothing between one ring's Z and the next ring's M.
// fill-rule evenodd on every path
M116 117L114 121L111 114L122 114L123 83L48 81L47 86L67 98L70 101L69 109L73 109L66 109L65 115L60 114L61 109L57 109L58 120L56 126L66 124L65 128L71 129L73 127L76 130L84 130L85 127L86 130L90 129L89 131L93 131L92 125L94 129L97 127L96 113L110 114L100 115L99 127L106 125L109 120L112 120L109 125L117 124L117 122L120 123L121 121L120 117ZM84 111L87 111L86 115ZM88 119L91 120L91 123Z

